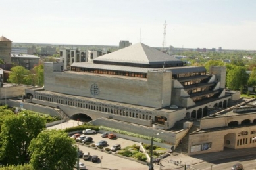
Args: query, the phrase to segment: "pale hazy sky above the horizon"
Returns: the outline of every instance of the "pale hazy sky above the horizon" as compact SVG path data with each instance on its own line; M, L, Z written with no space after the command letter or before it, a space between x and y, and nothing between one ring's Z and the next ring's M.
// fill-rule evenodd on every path
M0 34L16 43L256 50L255 0L2 0Z

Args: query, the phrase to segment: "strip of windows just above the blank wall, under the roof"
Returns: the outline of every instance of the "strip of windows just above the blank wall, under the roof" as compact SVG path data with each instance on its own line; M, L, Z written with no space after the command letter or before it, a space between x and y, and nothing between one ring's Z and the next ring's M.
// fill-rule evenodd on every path
M111 75L122 75L122 76L128 76L128 77L147 78L147 74L146 73L122 72L122 71L102 70L102 69L94 69L94 68L71 67L71 71L74 71L74 72L90 72L90 73L95 73L95 74L111 74Z

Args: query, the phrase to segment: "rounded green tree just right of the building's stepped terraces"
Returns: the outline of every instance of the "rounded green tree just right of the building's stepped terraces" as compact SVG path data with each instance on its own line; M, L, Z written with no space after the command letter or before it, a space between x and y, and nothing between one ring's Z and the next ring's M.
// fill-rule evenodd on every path
M240 89L241 86L246 85L248 74L245 67L235 66L234 69L228 71L227 85L233 90Z

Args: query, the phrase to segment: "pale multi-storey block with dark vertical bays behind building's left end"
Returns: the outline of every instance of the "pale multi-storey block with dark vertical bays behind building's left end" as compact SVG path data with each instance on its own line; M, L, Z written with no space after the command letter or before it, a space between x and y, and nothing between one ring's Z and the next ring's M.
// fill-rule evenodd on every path
M60 49L60 62L64 62L64 69L70 70L73 62L87 62L87 51L78 49Z

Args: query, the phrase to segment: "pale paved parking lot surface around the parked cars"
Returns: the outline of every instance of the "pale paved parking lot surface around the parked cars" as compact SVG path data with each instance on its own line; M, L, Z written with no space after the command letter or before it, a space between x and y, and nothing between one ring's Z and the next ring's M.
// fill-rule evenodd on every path
M90 134L90 135L86 135L86 136L93 138L93 142L91 142L91 144L96 144L100 140L106 140L107 145L104 146L104 148L111 148L111 146L113 146L114 144L121 144L122 148L125 148L126 146L131 146L133 144L138 145L137 142L133 142L133 141L126 140L123 138L118 138L118 137L115 139L102 138L101 133ZM147 165L143 165L136 161L130 161L128 159L120 158L118 156L115 156L115 154L108 154L104 151L100 151L97 149L93 149L93 148L84 146L83 144L80 144L79 142L77 142L77 144L79 146L79 150L82 150L83 152L90 152L91 156L93 156L93 155L99 156L97 163L91 162L91 156L90 156L90 159L88 159L88 160L84 160L84 159L80 158L80 162L86 164L86 169L120 169L120 170L128 170L128 169L145 170L145 169L148 169Z

